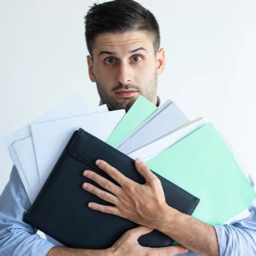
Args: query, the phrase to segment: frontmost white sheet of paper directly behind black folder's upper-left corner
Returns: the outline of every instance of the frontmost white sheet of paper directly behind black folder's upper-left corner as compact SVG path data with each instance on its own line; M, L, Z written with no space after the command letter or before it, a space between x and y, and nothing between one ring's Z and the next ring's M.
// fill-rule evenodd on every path
M124 115L125 110L115 110L31 124L41 184L45 183L75 130L83 128L105 141Z

